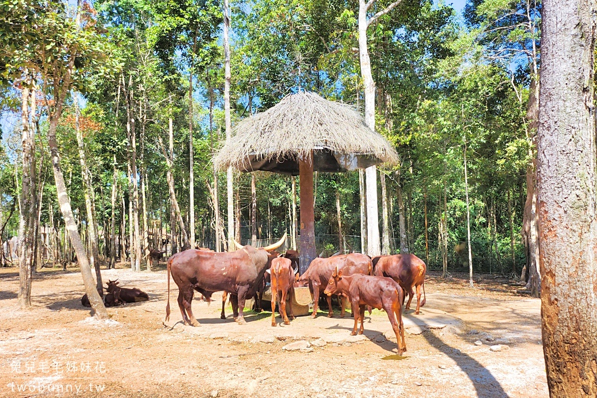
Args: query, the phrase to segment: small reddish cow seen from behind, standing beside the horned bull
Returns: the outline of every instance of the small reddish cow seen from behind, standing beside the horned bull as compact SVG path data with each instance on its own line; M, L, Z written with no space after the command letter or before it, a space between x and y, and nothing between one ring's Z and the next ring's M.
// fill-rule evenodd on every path
M284 319L284 325L290 325L286 314L286 299L294 295L293 262L290 258L277 257L272 260L272 267L266 271L272 276L272 326L276 326L276 298L279 294L280 305L278 307L280 316ZM290 319L294 319L293 306L290 304Z

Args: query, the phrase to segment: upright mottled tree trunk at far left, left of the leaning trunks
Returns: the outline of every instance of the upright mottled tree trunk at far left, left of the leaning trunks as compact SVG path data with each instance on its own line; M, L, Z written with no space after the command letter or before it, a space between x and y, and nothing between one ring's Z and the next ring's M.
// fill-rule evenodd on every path
M35 166L35 137L29 129L30 80L23 85L23 106L21 109L23 146L23 175L21 177L21 199L19 219L19 307L31 307L31 273L35 264L35 219L37 217L37 190ZM35 108L34 108L35 109ZM32 112L33 113L33 112Z

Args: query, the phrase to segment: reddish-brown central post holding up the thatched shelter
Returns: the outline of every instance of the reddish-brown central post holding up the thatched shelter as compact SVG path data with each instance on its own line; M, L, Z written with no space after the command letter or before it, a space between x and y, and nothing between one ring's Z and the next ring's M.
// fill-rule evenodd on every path
M300 184L300 263L303 274L317 256L315 249L315 208L313 206L313 151L298 160Z

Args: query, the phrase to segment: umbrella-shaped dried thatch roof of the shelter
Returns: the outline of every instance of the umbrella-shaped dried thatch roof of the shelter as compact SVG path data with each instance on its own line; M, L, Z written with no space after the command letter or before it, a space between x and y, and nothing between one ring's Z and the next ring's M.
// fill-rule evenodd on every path
M284 97L265 112L236 125L214 158L216 168L297 174L296 159L315 150L315 170L347 171L398 162L390 143L365 125L355 107L312 92ZM282 164L284 163L284 164Z

